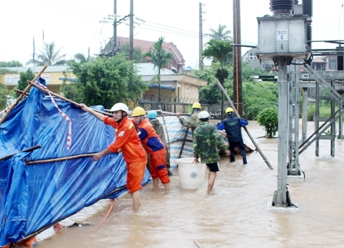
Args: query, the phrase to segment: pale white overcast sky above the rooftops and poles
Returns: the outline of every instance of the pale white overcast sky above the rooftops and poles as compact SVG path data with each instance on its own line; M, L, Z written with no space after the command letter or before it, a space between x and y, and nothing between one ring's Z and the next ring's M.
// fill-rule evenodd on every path
M344 0L313 0L312 39L344 39ZM198 0L133 0L135 17L145 22L134 28L134 38L157 41L164 37L173 42L184 56L186 66L198 66L199 10ZM233 1L202 1L203 33L219 24L233 30ZM302 3L299 0L299 3ZM257 17L270 12L270 0L241 0L241 43L257 45ZM129 14L130 0L117 0L117 14ZM114 13L114 0L1 0L0 61L20 61L25 65L32 58L33 37L38 49L55 42L67 54L97 54L100 46L113 35L112 23L104 17ZM138 21L138 20L136 20ZM129 23L129 21L127 21ZM117 35L129 37L129 25L121 23ZM204 43L206 43L204 39ZM314 43L313 48L334 48L330 43ZM247 49L243 48L242 54Z

